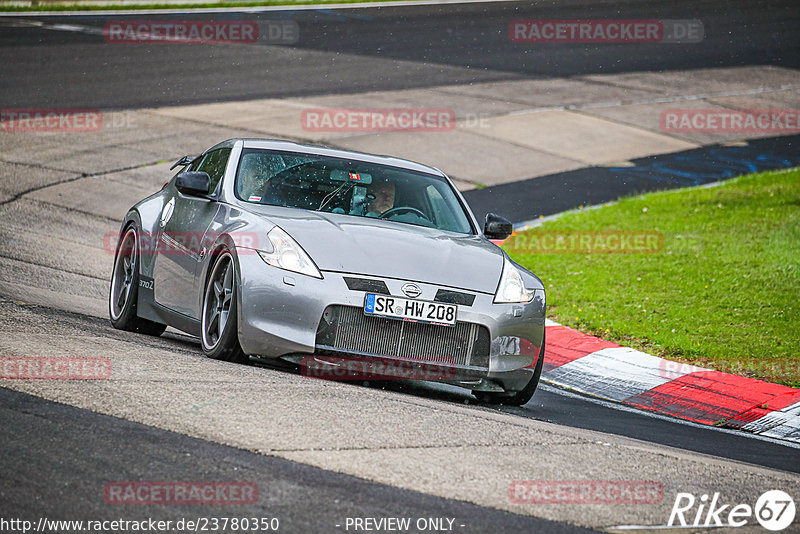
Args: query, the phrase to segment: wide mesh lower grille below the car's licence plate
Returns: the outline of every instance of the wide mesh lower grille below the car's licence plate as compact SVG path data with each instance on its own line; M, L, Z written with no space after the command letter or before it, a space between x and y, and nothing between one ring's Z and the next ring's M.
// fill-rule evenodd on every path
M484 326L459 322L446 327L368 317L352 306L325 310L316 343L318 348L342 352L489 367L489 331Z

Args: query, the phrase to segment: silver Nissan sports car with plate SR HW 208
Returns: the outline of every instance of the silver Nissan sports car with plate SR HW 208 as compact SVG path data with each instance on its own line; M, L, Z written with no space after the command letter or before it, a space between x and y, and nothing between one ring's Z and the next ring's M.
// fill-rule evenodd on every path
M524 404L544 358L542 282L441 171L231 139L134 205L116 245L116 328L196 335L211 358L309 376L438 380Z

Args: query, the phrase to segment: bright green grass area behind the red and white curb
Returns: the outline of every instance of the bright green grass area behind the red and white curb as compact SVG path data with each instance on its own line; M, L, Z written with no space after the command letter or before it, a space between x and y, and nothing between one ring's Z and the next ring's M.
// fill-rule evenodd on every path
M530 254L531 232L657 231L650 254ZM516 240L516 241L515 241ZM800 170L566 213L504 248L548 316L672 360L800 386Z

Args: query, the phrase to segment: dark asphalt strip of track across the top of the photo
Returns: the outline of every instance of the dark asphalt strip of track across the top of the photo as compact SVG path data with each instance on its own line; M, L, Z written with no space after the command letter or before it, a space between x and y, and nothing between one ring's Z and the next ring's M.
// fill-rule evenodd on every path
M800 66L797 3L563 0L145 18L294 20L294 45L106 46L102 34L30 31L25 20L101 30L138 16L0 18L0 105L138 108L481 81ZM702 44L513 43L515 19L699 19Z

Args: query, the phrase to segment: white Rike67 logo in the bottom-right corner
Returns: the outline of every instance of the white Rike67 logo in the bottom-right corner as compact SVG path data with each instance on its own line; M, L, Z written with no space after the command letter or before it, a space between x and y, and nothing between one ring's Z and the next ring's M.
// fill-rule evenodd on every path
M767 530L783 530L794 521L795 505L792 497L781 490L764 492L755 506L749 504L723 504L719 493L701 495L678 493L672 513L670 527L743 527L757 521Z

